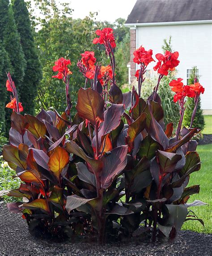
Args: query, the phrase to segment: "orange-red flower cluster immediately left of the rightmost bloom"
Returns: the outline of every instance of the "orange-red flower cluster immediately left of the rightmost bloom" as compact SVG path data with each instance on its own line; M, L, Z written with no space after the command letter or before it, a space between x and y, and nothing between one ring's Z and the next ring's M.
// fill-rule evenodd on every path
M183 85L182 78L178 78L177 80L172 80L169 85L172 87L172 91L176 94L174 95L174 102L179 101L179 104L184 105L185 97L193 98L195 96L195 92L189 85Z

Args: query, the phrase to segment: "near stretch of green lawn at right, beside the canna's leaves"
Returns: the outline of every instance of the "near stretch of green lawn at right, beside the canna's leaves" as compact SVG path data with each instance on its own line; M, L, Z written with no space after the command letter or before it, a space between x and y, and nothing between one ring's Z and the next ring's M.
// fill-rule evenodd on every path
M199 194L191 195L188 202L201 200L209 205L191 207L191 210L204 221L204 226L199 221L186 221L182 228L184 230L212 233L212 144L199 145L197 152L202 162L201 169L199 172L191 174L188 186L200 184L200 192Z

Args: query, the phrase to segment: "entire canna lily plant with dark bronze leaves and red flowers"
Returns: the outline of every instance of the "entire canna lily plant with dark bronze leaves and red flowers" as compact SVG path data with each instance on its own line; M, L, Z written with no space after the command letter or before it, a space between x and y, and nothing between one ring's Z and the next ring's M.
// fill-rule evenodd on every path
M152 234L153 242L174 238L184 221L204 222L189 210L190 195L199 185L187 187L190 175L200 170L198 128L185 128L182 119L186 97L193 97L195 117L199 95L197 82L183 85L182 78L170 82L181 118L176 134L173 124L164 125L157 90L163 76L179 64L178 52L156 55L159 77L153 94L142 99L141 86L153 51L140 47L134 52L138 93L135 87L122 93L115 81L116 47L113 30L97 30L93 43L105 46L110 65L96 63L94 52L84 52L77 66L85 77L78 92L76 115L72 118L69 94L70 60L55 62L53 78L65 84L67 108L59 114L42 109L36 117L25 114L15 84L8 73L7 90L12 92L10 144L3 156L16 170L21 186L8 195L22 202L8 204L21 213L30 229L58 237L82 235L98 239Z

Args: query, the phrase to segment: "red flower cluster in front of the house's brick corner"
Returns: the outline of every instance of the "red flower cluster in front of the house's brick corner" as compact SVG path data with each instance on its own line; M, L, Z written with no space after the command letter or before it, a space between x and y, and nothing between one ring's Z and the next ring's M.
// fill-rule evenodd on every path
M153 50L145 51L144 47L138 48L136 51L133 52L134 59L133 61L137 64L144 63L145 66L147 66L150 62L155 61L153 60Z

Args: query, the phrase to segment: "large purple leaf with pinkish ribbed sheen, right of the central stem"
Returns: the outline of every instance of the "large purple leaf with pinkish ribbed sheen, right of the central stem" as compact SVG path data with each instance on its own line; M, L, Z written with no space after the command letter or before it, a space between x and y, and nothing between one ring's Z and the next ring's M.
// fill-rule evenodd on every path
M102 161L101 187L108 188L115 176L120 174L127 165L127 146L114 148L110 154L102 157Z

